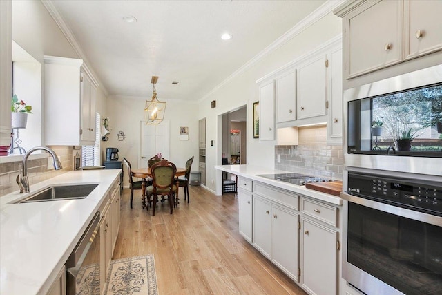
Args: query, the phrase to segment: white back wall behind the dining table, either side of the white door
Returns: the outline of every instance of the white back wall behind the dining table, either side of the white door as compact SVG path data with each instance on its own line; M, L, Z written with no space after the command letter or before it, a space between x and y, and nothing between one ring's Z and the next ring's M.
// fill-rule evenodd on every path
M151 99L146 95L147 99ZM177 167L185 167L186 161L193 156L192 171L198 171L198 105L161 99L167 102L164 120L170 122L170 160ZM106 147L119 149L119 159L124 157L131 162L132 168L138 167L140 153L140 121L144 122L144 105L146 100L133 97L108 97L106 114L111 119L111 134L107 142L102 142L102 150ZM161 124L161 123L160 123ZM180 127L189 127L189 140L180 140ZM117 133L124 131L126 140L117 140ZM128 186L128 174L124 167L124 186Z

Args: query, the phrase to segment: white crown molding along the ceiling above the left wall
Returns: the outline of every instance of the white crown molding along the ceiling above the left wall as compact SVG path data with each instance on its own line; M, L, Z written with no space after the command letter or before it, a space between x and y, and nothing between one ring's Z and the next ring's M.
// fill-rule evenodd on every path
M90 77L93 79L93 82L95 82L97 87L101 85L100 88L104 92L104 95L107 97L109 95L107 89L104 87L103 83L101 82L101 80L99 79L97 73L95 73L93 68L88 66L90 64L88 58L81 49L81 46L79 46L77 39L75 38L73 32L66 24L66 21L64 21L63 17L61 17L59 12L55 8L54 4L52 3L52 0L41 0L41 3L43 3L46 10L48 10L50 16L52 17L52 19L54 19L55 23L57 23L57 26L59 26L63 35L66 37L66 39L68 39L68 42L75 50L75 53L77 53L79 58L83 59L84 61L83 67L88 71L88 75L90 75Z

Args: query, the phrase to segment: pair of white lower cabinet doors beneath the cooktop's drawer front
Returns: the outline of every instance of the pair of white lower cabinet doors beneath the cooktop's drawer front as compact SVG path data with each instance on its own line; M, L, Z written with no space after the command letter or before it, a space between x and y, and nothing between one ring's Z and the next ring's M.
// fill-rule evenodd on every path
M253 195L253 246L296 281L298 218L296 211Z

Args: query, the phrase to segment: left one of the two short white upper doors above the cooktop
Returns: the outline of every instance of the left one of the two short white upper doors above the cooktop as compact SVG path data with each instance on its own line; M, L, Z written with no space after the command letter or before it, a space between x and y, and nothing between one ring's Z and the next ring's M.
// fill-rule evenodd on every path
M276 79L276 120L296 120L296 70Z

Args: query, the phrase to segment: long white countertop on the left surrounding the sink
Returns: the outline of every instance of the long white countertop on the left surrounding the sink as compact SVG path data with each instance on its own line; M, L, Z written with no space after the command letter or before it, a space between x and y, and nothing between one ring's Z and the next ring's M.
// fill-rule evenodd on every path
M70 171L0 198L0 294L46 294L119 179L119 169ZM99 183L85 199L10 204L50 184Z

